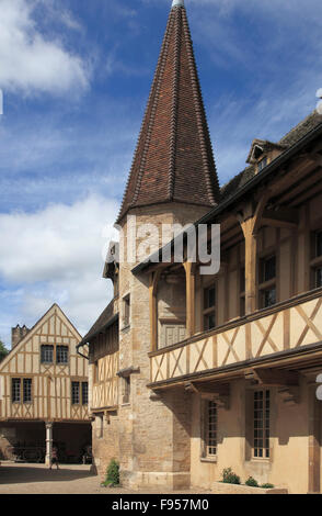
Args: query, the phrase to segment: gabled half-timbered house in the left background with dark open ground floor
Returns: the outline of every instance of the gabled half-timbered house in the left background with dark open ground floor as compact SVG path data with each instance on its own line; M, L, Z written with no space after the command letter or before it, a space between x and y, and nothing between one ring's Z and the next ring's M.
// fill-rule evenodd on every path
M12 328L12 349L0 364L4 457L25 453L41 460L41 450L47 442L48 456L54 441L62 458L77 460L91 445L88 360L77 354L80 338L57 304L32 329Z

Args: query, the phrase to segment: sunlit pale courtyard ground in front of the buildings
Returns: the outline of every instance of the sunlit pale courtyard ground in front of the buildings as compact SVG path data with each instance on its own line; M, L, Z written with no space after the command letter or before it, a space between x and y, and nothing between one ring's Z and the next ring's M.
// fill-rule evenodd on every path
M44 464L2 462L0 494L131 494L123 489L101 487L100 478L90 472L90 465L60 465L51 471ZM165 491L140 491L145 494L165 494ZM168 491L171 493L171 491ZM196 491L177 493L194 494ZM205 491L209 494L209 491ZM196 494L202 494L198 492Z

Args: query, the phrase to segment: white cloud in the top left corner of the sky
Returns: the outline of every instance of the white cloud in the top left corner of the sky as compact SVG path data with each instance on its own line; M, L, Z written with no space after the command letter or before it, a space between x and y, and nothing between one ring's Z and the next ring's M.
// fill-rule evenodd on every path
M89 85L82 59L48 41L33 19L36 0L0 0L0 87L4 90L61 94ZM61 23L74 25L69 13Z

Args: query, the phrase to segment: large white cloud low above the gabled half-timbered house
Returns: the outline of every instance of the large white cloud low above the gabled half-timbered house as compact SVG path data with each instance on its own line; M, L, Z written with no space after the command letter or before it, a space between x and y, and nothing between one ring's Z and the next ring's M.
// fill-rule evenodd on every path
M102 279L103 256L117 203L90 197L71 206L55 204L27 214L0 215L0 328L34 324L57 302L80 333L85 333L112 296ZM19 314L23 321L15 321Z

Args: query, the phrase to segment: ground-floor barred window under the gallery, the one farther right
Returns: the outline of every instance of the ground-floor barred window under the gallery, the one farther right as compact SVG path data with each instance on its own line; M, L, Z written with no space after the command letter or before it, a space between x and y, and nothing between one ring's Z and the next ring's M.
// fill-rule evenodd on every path
M254 458L269 458L269 391L254 392Z

